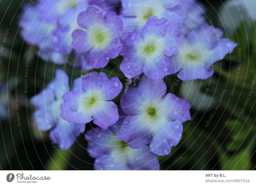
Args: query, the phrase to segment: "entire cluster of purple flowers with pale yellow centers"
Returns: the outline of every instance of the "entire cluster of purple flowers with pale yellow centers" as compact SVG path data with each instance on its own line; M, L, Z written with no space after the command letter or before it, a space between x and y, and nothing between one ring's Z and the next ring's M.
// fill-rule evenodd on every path
M25 6L24 40L42 59L61 64L71 56L79 64L74 68L84 70L70 90L68 75L57 69L31 98L39 129L50 131L63 150L83 133L96 170L158 170L156 155L169 155L191 120L190 103L168 92L164 78L205 80L213 63L237 45L205 22L203 11L196 0L39 0ZM128 87L125 77L132 79Z

